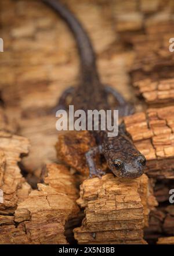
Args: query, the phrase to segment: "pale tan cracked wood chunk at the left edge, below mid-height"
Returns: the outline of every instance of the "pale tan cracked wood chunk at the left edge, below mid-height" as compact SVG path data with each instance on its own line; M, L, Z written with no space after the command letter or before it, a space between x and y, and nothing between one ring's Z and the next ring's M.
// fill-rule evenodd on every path
M26 183L17 165L20 155L28 154L30 144L27 138L8 132L1 131L0 137L0 188L3 191L3 204L0 205L0 211L2 214L8 214L9 209L15 209L17 203L23 201L31 191L30 185Z

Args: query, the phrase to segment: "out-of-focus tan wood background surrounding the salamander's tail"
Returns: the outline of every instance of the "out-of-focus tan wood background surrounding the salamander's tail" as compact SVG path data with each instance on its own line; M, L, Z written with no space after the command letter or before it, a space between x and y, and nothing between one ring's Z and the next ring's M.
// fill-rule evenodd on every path
M173 104L173 0L61 2L88 31L103 83L117 88L137 111ZM1 0L0 25L1 108L9 130L30 138L30 154L21 165L24 175L39 177L45 163L56 161L56 118L49 110L65 88L78 83L76 44L63 20L39 0ZM158 87L157 81L164 79L171 79L171 86ZM165 204L164 189L168 194L171 181L162 189L157 185L155 193ZM152 239L157 233L168 234L162 214L152 217ZM169 232L174 233L174 225Z

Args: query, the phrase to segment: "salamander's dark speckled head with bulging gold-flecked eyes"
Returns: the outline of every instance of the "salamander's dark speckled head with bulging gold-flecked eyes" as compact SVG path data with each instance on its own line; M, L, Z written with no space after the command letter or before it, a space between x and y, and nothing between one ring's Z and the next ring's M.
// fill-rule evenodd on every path
M146 166L146 158L136 154L129 158L113 158L108 161L108 166L115 176L123 178L137 178L142 176Z

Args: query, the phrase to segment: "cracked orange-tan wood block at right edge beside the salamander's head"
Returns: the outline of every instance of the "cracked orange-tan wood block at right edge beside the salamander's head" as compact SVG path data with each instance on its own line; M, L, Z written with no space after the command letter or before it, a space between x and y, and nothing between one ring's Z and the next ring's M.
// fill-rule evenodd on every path
M126 131L147 159L147 174L173 179L174 123L173 106L148 109L124 119Z

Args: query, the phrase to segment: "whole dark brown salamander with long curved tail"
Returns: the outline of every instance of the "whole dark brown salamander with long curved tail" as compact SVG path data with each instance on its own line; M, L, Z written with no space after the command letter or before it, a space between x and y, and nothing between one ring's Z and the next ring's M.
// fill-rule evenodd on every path
M42 0L67 22L73 31L77 41L81 60L81 81L77 88L69 88L64 91L59 101L59 109L65 108L67 95L72 95L74 109L97 109L98 111L110 109L107 95L113 94L118 102L118 110L124 115L130 115L131 106L125 102L124 98L110 87L104 86L96 67L96 56L88 34L74 17L74 15L56 0ZM106 158L108 167L114 175L119 177L136 178L143 174L146 159L132 144L132 141L124 132L124 125L119 126L118 136L108 137L107 130L92 131L96 138L97 147L86 153L86 161L89 165L90 176L100 176L103 172L96 169L93 157L100 152Z

